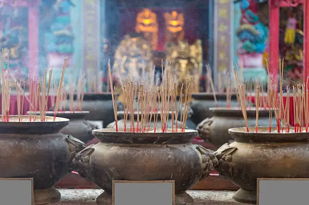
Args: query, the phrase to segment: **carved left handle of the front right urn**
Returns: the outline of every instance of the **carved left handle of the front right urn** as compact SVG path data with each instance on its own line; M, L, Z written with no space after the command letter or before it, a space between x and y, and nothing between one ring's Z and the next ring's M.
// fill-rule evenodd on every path
M225 143L217 151L215 156L219 160L219 165L216 167L217 172L220 175L231 178L233 167L233 154L237 150L237 147L230 146L229 143Z

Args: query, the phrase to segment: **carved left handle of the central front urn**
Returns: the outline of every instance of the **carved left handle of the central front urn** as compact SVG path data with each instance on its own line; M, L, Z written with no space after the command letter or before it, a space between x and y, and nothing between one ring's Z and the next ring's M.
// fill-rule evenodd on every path
M91 181L90 155L93 153L94 144L89 145L77 154L71 162L70 169L79 173L79 175L88 181Z

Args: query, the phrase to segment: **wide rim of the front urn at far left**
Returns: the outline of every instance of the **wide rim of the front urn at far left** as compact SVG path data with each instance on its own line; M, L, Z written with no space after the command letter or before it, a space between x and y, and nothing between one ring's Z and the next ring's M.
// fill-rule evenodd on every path
M21 115L23 119L29 120L29 115ZM69 125L70 119L63 117L46 116L48 121L40 120L36 115L36 121L18 121L18 115L10 115L10 119L16 121L0 121L0 134L54 134Z

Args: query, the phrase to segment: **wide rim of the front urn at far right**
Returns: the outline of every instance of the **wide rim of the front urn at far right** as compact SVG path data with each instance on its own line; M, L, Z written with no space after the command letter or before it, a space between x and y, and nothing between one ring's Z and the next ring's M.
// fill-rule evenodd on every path
M303 142L309 141L309 132L301 133L269 133L269 127L258 127L258 133L255 132L255 127L249 127L247 132L246 127L230 128L228 130L232 138L236 142L244 143L268 143L268 142ZM290 131L294 131L294 127L289 127ZM271 131L277 131L276 127L272 127ZM305 128L302 128L305 131Z

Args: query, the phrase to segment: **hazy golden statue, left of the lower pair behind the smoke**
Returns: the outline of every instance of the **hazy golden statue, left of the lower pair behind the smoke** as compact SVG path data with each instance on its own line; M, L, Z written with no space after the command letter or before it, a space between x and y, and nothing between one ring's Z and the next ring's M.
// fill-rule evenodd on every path
M148 40L139 34L125 35L115 52L115 77L120 83L127 81L127 77L138 82L150 77L152 72L152 49Z

